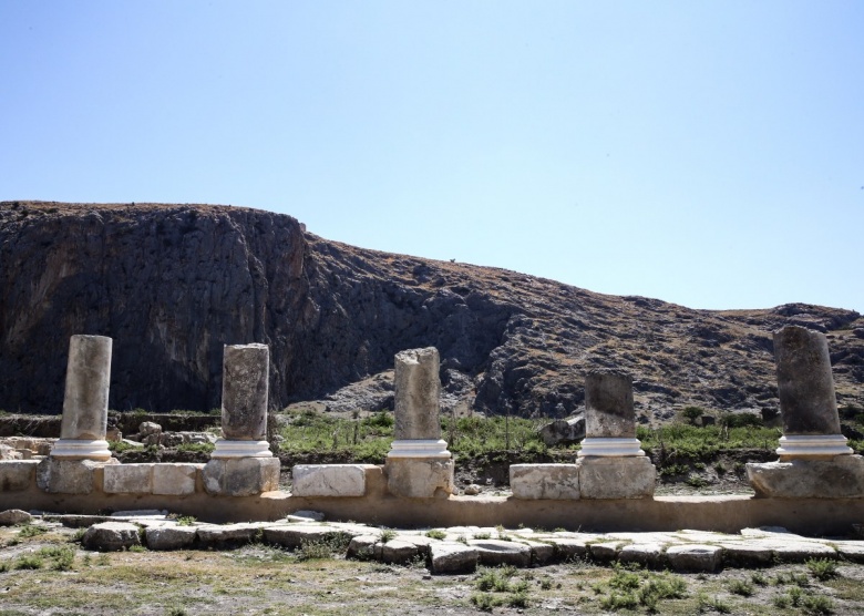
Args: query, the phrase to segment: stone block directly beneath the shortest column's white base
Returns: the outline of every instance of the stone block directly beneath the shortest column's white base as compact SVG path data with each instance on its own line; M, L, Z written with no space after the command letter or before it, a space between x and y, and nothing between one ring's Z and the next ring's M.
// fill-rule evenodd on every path
M579 496L583 499L648 499L654 496L657 471L647 456L582 458Z

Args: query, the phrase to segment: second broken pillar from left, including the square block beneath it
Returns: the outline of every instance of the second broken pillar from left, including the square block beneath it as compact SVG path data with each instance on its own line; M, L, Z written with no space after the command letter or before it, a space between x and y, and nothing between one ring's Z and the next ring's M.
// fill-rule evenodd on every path
M266 345L225 347L222 432L202 471L204 489L223 496L250 496L279 486L279 459L267 442L270 353Z

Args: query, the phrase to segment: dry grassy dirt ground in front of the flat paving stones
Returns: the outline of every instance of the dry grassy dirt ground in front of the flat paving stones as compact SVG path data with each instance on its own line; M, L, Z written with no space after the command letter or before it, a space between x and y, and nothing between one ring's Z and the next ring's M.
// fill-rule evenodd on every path
M574 561L431 575L422 561L305 558L260 544L100 554L75 530L38 526L0 528L0 616L864 613L864 566L844 562L673 574Z

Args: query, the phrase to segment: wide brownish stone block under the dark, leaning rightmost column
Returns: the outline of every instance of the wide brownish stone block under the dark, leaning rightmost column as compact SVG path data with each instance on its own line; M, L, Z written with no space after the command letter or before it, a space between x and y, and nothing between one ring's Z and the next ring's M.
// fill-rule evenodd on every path
M747 475L758 497L864 497L864 458L861 455L750 463Z

